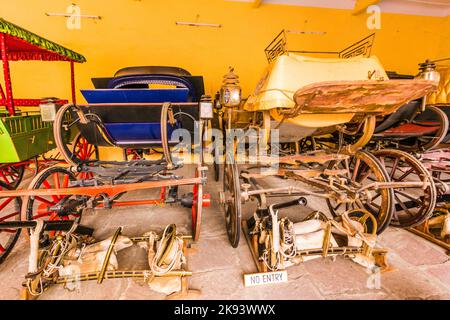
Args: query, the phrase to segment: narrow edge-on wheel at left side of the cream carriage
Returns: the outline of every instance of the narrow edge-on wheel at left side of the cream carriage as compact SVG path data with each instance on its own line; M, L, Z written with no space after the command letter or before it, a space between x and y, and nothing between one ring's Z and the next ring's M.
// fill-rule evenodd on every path
M232 157L227 157L223 174L223 208L228 240L233 248L237 248L241 237L241 187L239 184L239 170Z

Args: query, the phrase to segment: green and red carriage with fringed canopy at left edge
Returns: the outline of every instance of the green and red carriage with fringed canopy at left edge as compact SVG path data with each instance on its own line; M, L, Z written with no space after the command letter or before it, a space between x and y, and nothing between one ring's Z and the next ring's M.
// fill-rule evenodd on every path
M37 174L41 169L64 160L59 154L46 153L55 149L52 121L57 108L67 104L58 98L17 99L13 95L10 72L11 61L62 61L70 64L72 102L75 97L75 63L85 57L54 42L44 39L6 20L0 19L0 53L3 64L4 88L0 85L0 190L16 189L25 170ZM87 143L78 132L64 137L68 148L84 159L80 150ZM20 199L0 201L0 222L20 219ZM13 206L11 204L14 204ZM6 208L8 207L8 208ZM11 209L14 207L13 209ZM10 253L20 230L0 232L0 263Z

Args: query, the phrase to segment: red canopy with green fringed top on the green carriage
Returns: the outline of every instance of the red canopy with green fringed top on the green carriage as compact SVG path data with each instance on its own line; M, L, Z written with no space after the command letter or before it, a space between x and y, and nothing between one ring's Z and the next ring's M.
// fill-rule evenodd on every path
M0 34L5 36L8 60L11 61L86 62L86 58L83 55L44 39L2 18L0 18Z

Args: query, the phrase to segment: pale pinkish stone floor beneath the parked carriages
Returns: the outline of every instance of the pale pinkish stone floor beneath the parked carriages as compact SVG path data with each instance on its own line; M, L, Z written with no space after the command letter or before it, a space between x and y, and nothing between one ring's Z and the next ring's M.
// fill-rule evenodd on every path
M186 176L192 174L184 168ZM450 299L450 261L445 250L419 238L408 231L389 228L379 240L380 246L389 249L391 271L382 273L378 289L368 288L371 275L351 260L337 258L315 259L288 269L289 282L257 288L245 288L243 274L253 273L256 267L249 248L242 237L233 249L226 236L224 218L217 201L220 184L208 173L206 190L212 195L212 205L203 210L201 237L195 244L195 253L188 257L193 271L190 287L201 290L199 299ZM181 190L181 192L189 190ZM154 195L154 192L137 192L131 197ZM312 210L326 212L323 200L308 199L307 208L284 212L301 219ZM245 207L244 217L251 214ZM295 220L294 220L295 221ZM176 223L178 229L189 231L190 210L178 206L122 207L113 210L85 212L83 224L96 228L97 239L105 239L119 227L124 235L137 236L149 230ZM23 276L27 271L28 245L25 237L15 247L5 263L0 265L1 299L16 299ZM121 268L139 268L145 263L145 251L138 247L119 252ZM132 279L82 282L80 290L67 291L54 286L41 299L163 299L164 294L152 291Z

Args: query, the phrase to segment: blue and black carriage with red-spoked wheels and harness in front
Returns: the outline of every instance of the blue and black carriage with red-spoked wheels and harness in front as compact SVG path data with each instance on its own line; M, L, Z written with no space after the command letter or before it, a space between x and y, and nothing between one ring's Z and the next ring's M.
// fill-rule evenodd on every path
M27 190L0 192L2 215L16 220L0 223L1 233L15 234L21 228L28 228L30 234L36 234L39 239L31 242L34 256L30 261L34 262L30 264L33 271L30 271L26 281L27 297L39 295L45 288L43 282L47 285L62 283L60 278L64 278L63 275L58 275L55 268L49 273L47 268L55 266L55 261L63 263L69 253L66 249L76 250L82 244L92 244L89 238L92 232L88 230L86 234L86 228L81 228L84 233L80 234L78 228L83 210L87 208L181 204L190 209L192 236L180 236L176 227L170 226L164 234L154 235L151 238L153 242L148 244L153 255L158 256L158 262L151 264L151 270L116 272L116 269L110 270L107 266L117 234L110 239L110 249L103 264L85 273L83 280L100 279L98 277L149 280L154 278L152 275L181 278L190 275L181 260L184 261L188 238L198 240L202 208L210 204L209 195L203 192L206 167L201 156L201 137L204 120L212 115L212 102L204 95L202 77L191 76L180 68L132 67L118 71L112 78L95 78L93 82L96 89L82 90L88 104L66 104L55 115L54 139L69 166L57 165L41 171ZM175 132L177 129L182 131L179 136ZM86 147L80 152L71 148L65 138L74 132L86 141ZM191 140L192 135L200 140ZM192 177L185 178L176 172L183 162L174 156L177 145L181 143L180 138L174 137L186 138L184 145L194 145L200 153L193 159L195 173ZM123 161L100 161L95 150L101 146L120 147L126 157ZM139 157L128 160L129 150L138 150L141 155L145 150L154 150L155 153L151 159ZM83 157L79 157L80 154ZM192 192L179 195L180 186L190 186ZM150 189L160 190L159 197L121 200L128 192ZM27 221L19 221L20 215L15 213L20 210ZM84 239L84 236L89 239ZM74 239L78 242L74 243ZM150 238L131 238L130 241L148 242ZM11 241L7 243L10 247L14 245ZM61 243L67 248L62 248ZM50 250L53 256L39 258L45 252L48 254L49 248L54 246L57 250ZM177 254L174 256L172 251L175 248ZM167 260L169 263L166 264ZM101 270L100 266L103 266ZM167 272L155 273L153 268ZM174 268L179 271L174 271ZM42 270L47 271L42 273ZM180 290L187 292L185 280Z

